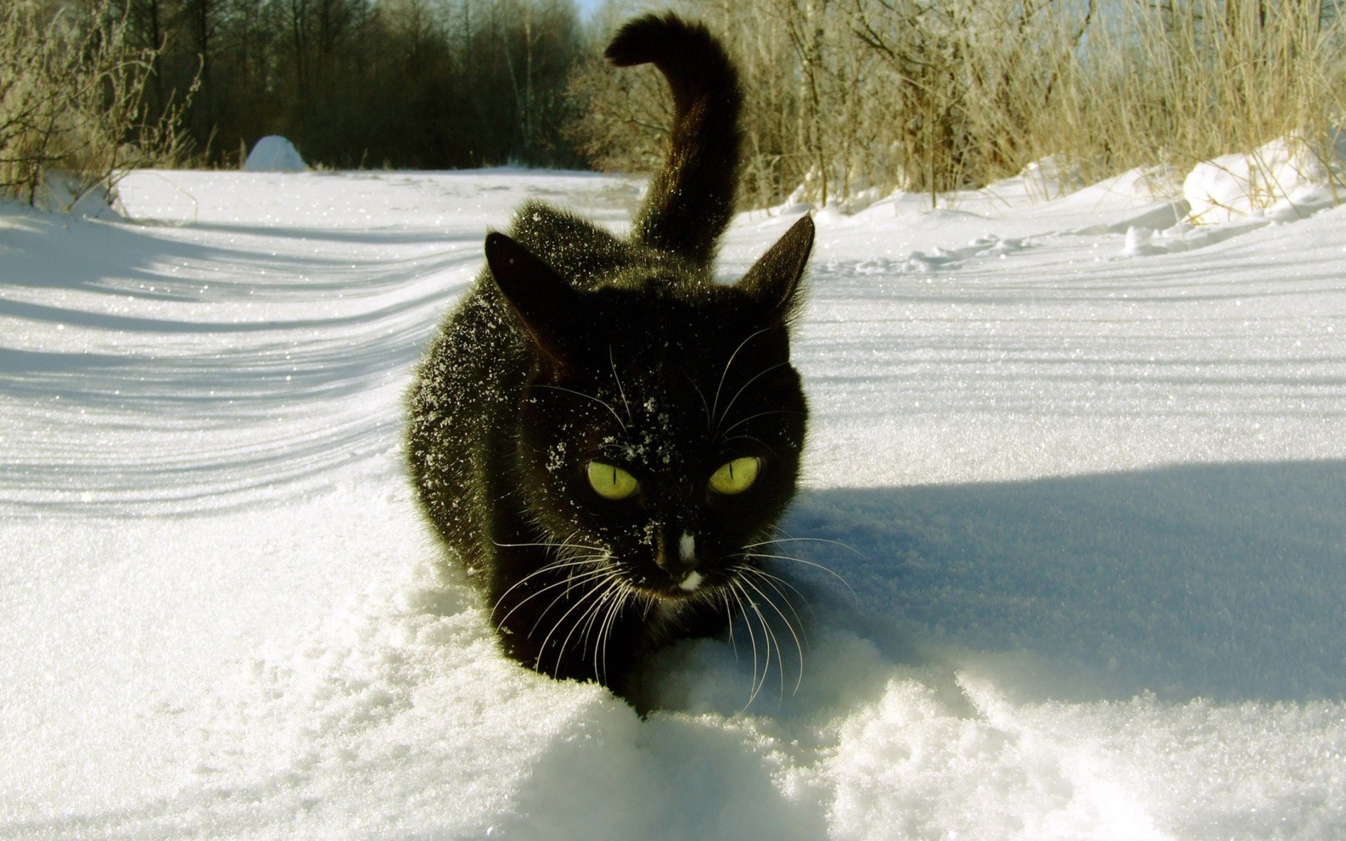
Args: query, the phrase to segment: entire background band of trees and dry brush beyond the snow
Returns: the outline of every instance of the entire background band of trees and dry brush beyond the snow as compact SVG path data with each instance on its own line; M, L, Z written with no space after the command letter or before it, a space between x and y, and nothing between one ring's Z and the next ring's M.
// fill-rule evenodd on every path
M1049 156L1066 186L1182 172L1330 143L1343 1L607 0L581 20L573 0L0 0L0 187L234 167L272 133L328 167L649 171L668 94L602 50L650 7L705 20L740 66L743 206L935 200Z

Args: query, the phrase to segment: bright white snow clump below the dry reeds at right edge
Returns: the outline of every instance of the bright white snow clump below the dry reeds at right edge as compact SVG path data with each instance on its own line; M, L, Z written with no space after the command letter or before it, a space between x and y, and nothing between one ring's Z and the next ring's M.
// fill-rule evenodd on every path
M1339 205L1346 187L1346 132L1306 140L1280 137L1249 155L1222 155L1187 175L1189 221L1222 223L1269 218L1292 222Z

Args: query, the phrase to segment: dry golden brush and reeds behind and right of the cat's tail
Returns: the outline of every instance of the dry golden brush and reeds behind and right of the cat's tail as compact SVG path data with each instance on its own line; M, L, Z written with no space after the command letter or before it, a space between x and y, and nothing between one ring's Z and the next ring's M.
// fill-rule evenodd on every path
M748 90L744 203L804 184L933 195L1054 156L1093 180L1190 170L1280 136L1326 151L1346 114L1346 9L1330 0L682 0ZM615 16L614 16L615 17ZM596 38L598 43L603 39ZM611 73L611 71L608 71ZM633 70L626 73L651 73ZM575 79L579 129L650 157L656 87ZM756 102L765 106L756 108ZM647 120L646 120L647 122ZM598 164L630 166L622 156Z

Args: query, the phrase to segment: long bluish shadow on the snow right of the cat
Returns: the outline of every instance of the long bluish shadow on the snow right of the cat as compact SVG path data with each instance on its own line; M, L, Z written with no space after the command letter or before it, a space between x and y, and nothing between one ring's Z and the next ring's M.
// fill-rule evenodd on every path
M794 544L855 591L808 571L826 623L899 661L1027 654L1001 678L1042 700L1302 701L1346 696L1342 511L1346 462L1198 464L805 491L786 530L855 549Z

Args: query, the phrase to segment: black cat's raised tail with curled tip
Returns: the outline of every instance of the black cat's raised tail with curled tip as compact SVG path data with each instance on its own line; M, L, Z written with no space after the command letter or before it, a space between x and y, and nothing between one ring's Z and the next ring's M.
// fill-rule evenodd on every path
M604 52L618 67L653 63L673 89L673 131L631 235L709 264L734 217L739 180L739 75L711 32L672 12L643 15Z

